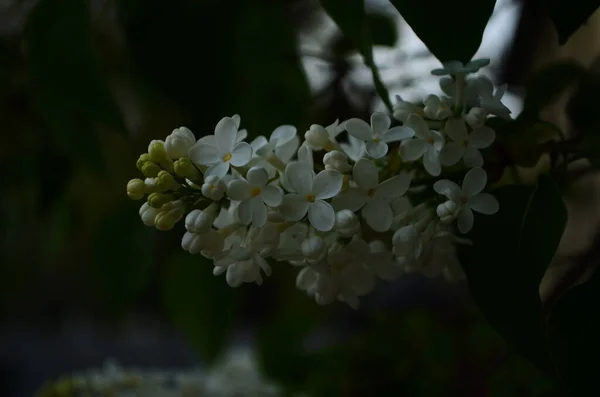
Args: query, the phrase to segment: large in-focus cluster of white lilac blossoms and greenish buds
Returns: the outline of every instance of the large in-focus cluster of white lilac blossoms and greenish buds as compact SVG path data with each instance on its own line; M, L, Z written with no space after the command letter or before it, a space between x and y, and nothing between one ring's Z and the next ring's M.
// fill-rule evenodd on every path
M319 304L356 308L377 278L460 277L456 243L469 241L455 229L469 232L473 211L498 210L483 192L481 150L495 139L488 116L510 112L489 79L467 76L488 62L434 70L446 96L423 105L398 97L395 126L376 112L370 124L312 125L303 141L283 125L250 143L237 115L198 141L181 127L152 141L138 161L147 178L130 181L128 194L149 194L140 209L147 225L170 230L185 217L182 247L212 259L232 287L260 285L269 261L288 262ZM459 176L444 178L450 166Z

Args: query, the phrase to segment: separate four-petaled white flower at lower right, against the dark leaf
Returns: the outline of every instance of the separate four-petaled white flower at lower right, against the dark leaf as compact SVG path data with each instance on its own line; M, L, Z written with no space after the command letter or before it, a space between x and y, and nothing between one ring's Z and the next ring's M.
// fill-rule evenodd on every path
M433 189L449 200L455 202L460 209L456 219L458 230L468 233L473 228L473 211L492 215L498 212L498 200L490 193L482 193L487 184L487 174L483 168L472 168L463 179L462 188L449 179L442 179L433 184Z

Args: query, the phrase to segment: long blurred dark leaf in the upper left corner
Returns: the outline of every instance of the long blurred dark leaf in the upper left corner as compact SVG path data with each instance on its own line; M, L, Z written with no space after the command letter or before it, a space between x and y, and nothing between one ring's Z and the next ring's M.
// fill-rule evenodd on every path
M94 51L88 1L40 0L26 27L29 72L39 112L61 145L104 171L96 128L124 132Z

